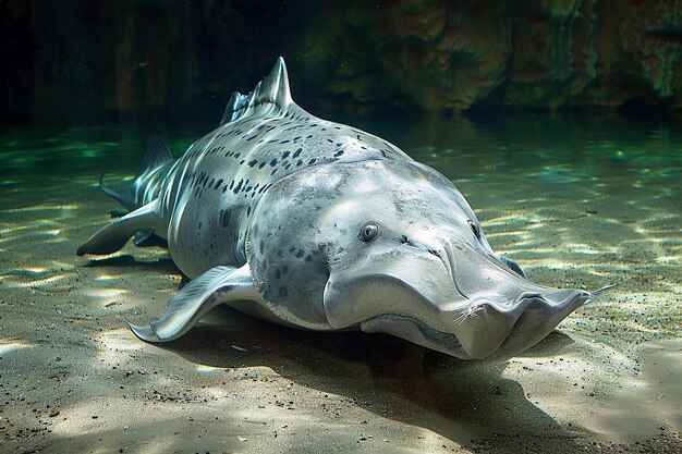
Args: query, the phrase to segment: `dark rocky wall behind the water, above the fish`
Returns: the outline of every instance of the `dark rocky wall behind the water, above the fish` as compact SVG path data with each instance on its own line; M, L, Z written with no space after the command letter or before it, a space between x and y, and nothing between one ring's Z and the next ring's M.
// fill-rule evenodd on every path
M5 124L219 110L279 54L303 106L682 107L682 0L1 0L0 42Z

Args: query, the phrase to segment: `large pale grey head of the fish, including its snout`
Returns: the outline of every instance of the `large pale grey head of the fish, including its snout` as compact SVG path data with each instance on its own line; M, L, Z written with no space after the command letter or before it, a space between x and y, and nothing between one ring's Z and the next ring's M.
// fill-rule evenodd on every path
M258 210L277 225L269 242L284 245L268 266L285 267L288 289L300 289L278 304L307 306L328 329L389 333L462 359L512 356L590 296L535 284L496 255L462 194L426 165L324 168L273 186Z

